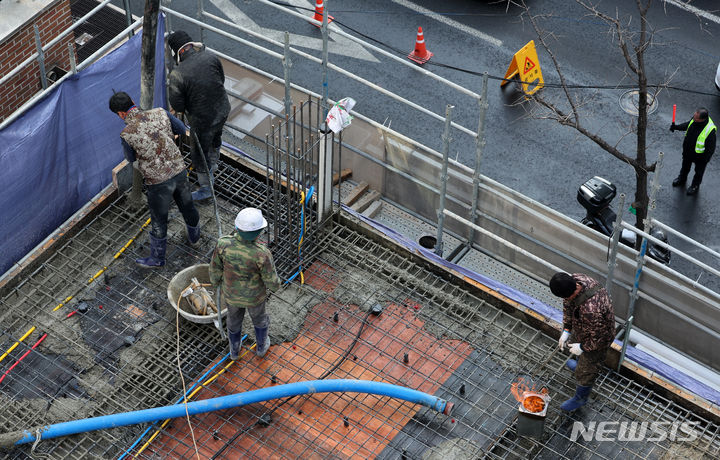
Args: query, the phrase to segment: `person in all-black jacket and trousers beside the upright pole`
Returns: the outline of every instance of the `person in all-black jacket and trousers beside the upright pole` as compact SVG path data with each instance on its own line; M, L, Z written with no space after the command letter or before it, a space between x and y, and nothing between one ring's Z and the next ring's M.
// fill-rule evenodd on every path
M200 189L193 192L193 200L210 197L210 176L217 170L222 145L222 129L230 113L230 101L225 92L225 72L220 59L205 50L202 43L193 42L187 32L178 30L168 36L177 66L170 72L168 88L170 106L182 118L187 116L190 128L197 134L202 154L194 139L191 141L193 168L197 171Z

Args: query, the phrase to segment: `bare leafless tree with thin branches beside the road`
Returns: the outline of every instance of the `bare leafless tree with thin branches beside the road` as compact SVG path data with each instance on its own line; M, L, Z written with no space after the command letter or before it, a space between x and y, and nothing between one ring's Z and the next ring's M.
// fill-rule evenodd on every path
M567 105L563 103L564 107L561 107L559 102L551 101L544 97L541 92L536 92L528 98L535 101L543 109L540 118L547 118L557 121L558 123L569 126L575 129L577 132L587 137L595 144L600 146L603 150L616 157L617 159L627 163L635 170L635 208L636 223L635 225L643 229L644 220L647 216L648 210L648 173L655 171L655 162L647 164L647 122L648 122L648 108L652 101L648 101L648 81L645 73L645 52L652 45L652 33L649 31L650 27L647 22L647 12L650 8L652 0L635 0L637 5L640 24L639 31L630 28L632 18L622 19L618 12L615 16L610 16L600 11L596 5L589 3L587 0L575 0L579 5L585 8L591 16L603 20L609 26L609 32L613 39L613 42L617 44L625 64L627 65L628 73L635 80L638 90L638 114L636 125L634 128L624 136L621 136L617 142L611 143L599 134L591 132L585 125L583 125L583 105L587 103L585 100L581 100L576 95L571 93L570 85L567 84L565 76L558 64L552 49L547 43L547 39L552 36L552 33L545 32L538 26L538 19L541 16L534 16L529 7L522 2L522 6L525 8L526 16L532 24L535 32L538 36L538 40L543 48L548 52L552 59L555 70L560 77L560 84L566 99ZM655 97L652 95L651 97ZM622 138L629 134L634 134L637 137L636 150L633 155L623 153L620 150L620 141ZM639 239L638 239L639 242Z

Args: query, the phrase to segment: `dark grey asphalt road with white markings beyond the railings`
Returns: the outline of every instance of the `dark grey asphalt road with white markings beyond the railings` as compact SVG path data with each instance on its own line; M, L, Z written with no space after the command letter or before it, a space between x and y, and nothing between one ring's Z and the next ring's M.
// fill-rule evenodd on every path
M204 3L207 11L245 27L256 28L266 36L279 37L280 32L288 30L293 46L320 56L320 31L305 21L285 16L257 0L204 0ZM288 3L303 8L311 8L314 4L311 0L288 0ZM605 23L567 0L530 0L528 3L534 15L542 16L538 23L550 33L548 43L569 84L612 86L634 83ZM142 4L139 0L133 3L135 14L142 14ZM717 6L710 0L693 1L693 11L678 4L677 1L656 1L648 15L653 31L653 45L646 53L649 81L669 82L689 90L659 93L657 110L649 117L648 157L654 160L658 152L665 153L659 176L662 188L654 212L661 222L718 251L720 231L715 224L720 218L720 203L716 199L716 191L720 190L720 159L715 158L708 165L697 196L688 197L684 189L672 188L670 184L680 169L683 134L671 133L668 128L673 104L677 104L679 122L688 120L699 106L707 107L710 116L715 115L720 122L720 92L713 83L720 61L716 42L720 35L720 13L712 13L712 8ZM502 77L517 50L529 40L538 42L520 8L489 0L326 0L326 5L343 30L372 37L376 40L374 44L382 43L386 50L400 50L400 56L412 50L417 27L422 26L427 47L434 53L424 68L476 92L480 91L480 76L438 64L473 72L487 71L491 76ZM636 31L639 21L634 5L635 2L611 0L603 1L601 8L608 14L617 10L621 17L632 15L630 26ZM194 14L197 2L174 0L170 7ZM185 28L197 36L195 28L177 20L173 20L172 28ZM208 34L206 43L263 70L282 75L279 62L246 46L213 34ZM452 104L455 106L454 121L472 130L477 128L477 107L467 96L347 41L334 41L330 51L332 63L435 113L444 114L445 105ZM539 59L546 82L557 83L558 75L545 50L539 50ZM293 64L293 82L321 93L320 67L299 58L295 58ZM356 111L385 121L393 129L440 150L442 122L372 93L335 73L330 74L328 87L331 98L351 96L357 100ZM573 97L583 102L582 123L590 131L617 144L628 155L634 155L635 138L631 129L635 117L622 111L619 104L625 91L582 89L573 91ZM543 92L547 98L562 100L559 89L548 87ZM503 90L497 80L490 81L487 145L481 163L485 175L575 219L584 215L584 209L575 199L577 188L593 175L610 179L629 198L634 195L632 168L571 128L534 117L532 104L522 102L521 98L518 103L518 100L516 91ZM451 156L473 166L473 140L460 132L453 137ZM686 243L672 237L671 243L715 267L720 266L717 259L702 256ZM674 257L671 266L693 278L700 273L679 257ZM720 280L713 279L712 275L705 274L700 281L720 290Z

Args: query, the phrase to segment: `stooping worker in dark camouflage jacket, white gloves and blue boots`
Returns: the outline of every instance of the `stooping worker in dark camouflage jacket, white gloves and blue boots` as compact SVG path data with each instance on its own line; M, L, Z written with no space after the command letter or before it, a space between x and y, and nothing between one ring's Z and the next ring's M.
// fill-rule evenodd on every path
M560 406L573 411L587 403L593 383L615 339L615 313L605 288L582 273L556 273L550 279L550 290L564 299L563 332L558 345L562 350L572 338L568 347L570 353L577 357L567 363L575 371L575 396Z

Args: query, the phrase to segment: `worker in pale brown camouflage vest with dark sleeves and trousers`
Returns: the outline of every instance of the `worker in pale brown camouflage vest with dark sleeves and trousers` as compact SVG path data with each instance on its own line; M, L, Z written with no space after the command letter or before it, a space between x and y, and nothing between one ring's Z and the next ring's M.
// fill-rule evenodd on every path
M185 220L188 243L194 245L200 239L200 214L190 195L185 161L175 145L175 135L185 134L187 128L165 109L140 110L124 91L113 94L109 106L125 122L120 133L125 158L137 164L147 189L152 222L150 256L135 262L146 268L162 267L172 200Z

